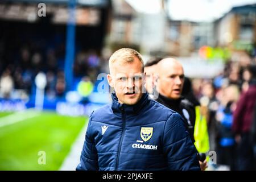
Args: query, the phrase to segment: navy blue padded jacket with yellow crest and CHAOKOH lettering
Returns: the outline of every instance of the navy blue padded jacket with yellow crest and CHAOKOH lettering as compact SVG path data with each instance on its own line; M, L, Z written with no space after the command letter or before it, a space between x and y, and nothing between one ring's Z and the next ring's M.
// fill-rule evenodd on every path
M200 170L183 118L143 94L90 115L77 170Z

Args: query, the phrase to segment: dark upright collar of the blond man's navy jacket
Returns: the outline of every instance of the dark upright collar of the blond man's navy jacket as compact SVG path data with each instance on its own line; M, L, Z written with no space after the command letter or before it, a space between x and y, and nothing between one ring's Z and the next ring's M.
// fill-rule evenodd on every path
M112 110L116 114L122 114L122 110L126 114L137 114L147 104L147 101L148 93L143 93L141 99L134 105L120 104L114 92L112 93Z

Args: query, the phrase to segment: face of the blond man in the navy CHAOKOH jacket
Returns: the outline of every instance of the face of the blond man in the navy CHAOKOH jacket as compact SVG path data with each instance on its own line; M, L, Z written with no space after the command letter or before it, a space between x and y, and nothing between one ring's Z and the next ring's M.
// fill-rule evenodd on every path
M110 69L112 75L108 75L108 81L115 89L118 102L127 105L136 104L142 97L144 85L141 61L137 57L127 63L116 60Z

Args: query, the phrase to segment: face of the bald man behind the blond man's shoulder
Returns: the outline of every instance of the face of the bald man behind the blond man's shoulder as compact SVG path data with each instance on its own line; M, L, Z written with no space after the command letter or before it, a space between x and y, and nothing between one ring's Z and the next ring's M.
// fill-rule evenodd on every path
M171 99L179 99L184 84L183 67L177 63L159 66L159 93Z

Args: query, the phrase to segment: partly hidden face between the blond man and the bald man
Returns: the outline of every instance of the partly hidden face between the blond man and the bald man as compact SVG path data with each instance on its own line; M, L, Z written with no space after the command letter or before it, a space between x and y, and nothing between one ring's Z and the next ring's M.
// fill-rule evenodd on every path
M147 92L153 93L156 85L157 77L158 77L158 75L156 74L156 65L145 67L144 73L146 74L146 77L147 77L146 79Z

